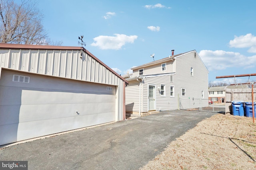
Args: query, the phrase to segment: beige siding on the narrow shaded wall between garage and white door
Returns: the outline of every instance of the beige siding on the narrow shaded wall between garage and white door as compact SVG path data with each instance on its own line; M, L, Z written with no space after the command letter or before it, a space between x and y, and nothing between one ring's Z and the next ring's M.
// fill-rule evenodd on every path
M137 80L129 82L125 88L126 111L139 112L140 86Z

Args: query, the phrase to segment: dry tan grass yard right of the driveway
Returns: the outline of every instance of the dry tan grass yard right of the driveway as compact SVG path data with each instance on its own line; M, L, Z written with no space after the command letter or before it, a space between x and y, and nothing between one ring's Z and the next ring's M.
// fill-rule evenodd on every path
M252 117L214 115L141 170L256 170L256 123Z

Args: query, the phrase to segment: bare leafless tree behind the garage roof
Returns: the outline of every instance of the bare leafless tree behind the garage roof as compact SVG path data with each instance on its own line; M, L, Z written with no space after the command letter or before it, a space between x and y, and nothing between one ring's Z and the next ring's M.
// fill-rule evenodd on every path
M0 0L0 42L50 45L52 41L44 31L42 18L36 2L22 0L17 4L14 0Z

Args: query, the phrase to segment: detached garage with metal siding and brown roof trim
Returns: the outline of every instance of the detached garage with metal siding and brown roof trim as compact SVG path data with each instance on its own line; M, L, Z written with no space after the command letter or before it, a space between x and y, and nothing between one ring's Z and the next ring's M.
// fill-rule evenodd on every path
M125 119L128 84L82 47L0 43L0 145Z

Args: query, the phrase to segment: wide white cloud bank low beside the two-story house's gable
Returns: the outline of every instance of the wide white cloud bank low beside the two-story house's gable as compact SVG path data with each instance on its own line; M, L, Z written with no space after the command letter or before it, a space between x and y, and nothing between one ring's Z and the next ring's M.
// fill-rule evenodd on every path
M254 63L256 63L256 55L246 57L240 53L222 50L202 50L199 56L209 71L224 70L231 67L251 68L254 67Z

